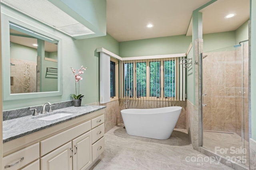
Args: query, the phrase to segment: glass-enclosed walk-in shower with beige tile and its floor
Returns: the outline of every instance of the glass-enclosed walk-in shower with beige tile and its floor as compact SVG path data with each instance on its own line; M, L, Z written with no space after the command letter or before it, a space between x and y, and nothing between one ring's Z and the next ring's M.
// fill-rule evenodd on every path
M202 54L203 147L249 165L248 42Z

